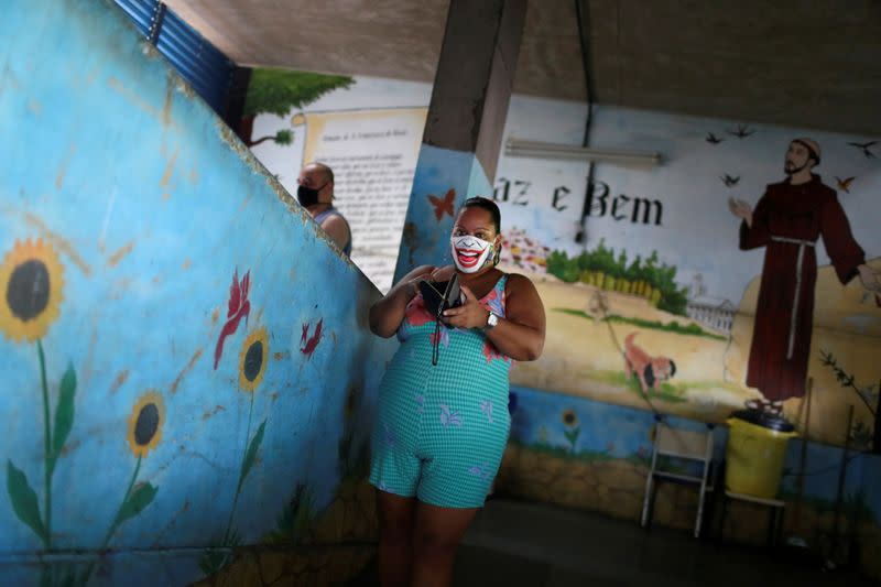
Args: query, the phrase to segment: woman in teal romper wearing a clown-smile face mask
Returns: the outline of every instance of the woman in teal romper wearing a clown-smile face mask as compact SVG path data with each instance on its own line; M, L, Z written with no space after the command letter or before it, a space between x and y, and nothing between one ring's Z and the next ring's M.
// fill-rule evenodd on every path
M370 329L401 343L380 387L370 471L385 587L450 584L456 548L508 441L508 372L544 346L535 286L496 268L500 232L492 200L466 200L450 238L455 264L414 269L370 308ZM438 328L418 282L454 275L464 302Z

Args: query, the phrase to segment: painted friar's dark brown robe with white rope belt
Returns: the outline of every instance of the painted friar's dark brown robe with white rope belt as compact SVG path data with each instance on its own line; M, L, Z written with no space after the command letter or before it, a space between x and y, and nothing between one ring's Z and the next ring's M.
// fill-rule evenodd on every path
M769 185L752 227L740 225L741 250L765 248L747 384L771 401L805 393L819 237L839 281L847 284L866 256L838 196L818 175L802 185Z

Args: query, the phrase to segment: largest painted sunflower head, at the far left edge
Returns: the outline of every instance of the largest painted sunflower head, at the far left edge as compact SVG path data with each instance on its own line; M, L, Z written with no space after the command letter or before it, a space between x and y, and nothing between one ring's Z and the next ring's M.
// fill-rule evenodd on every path
M0 263L0 331L12 340L45 336L58 317L64 265L52 244L15 241Z

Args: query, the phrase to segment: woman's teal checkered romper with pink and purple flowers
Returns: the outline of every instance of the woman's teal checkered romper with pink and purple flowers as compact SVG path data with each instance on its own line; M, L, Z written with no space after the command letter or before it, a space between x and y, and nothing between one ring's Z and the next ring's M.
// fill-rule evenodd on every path
M480 301L499 316L507 281L502 275ZM434 338L434 317L417 295L380 385L370 482L433 506L479 508L508 442L512 361L482 331L442 325L440 357L432 366Z

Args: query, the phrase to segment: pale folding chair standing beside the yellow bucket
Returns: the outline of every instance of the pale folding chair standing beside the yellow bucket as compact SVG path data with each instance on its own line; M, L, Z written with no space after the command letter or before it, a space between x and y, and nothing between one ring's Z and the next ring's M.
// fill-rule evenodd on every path
M686 431L671 427L663 420L655 424L654 449L652 452L652 463L645 479L645 498L642 503L642 518L640 524L646 528L651 524L654 507L654 493L657 481L672 481L682 485L690 485L698 488L697 515L695 519L695 537L700 536L704 520L704 503L707 492L715 489L715 482L710 479L713 463L713 430L708 427L704 432ZM681 471L664 470L661 457L683 459L687 463L696 463L699 467L699 475L687 475Z

